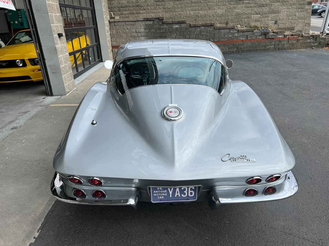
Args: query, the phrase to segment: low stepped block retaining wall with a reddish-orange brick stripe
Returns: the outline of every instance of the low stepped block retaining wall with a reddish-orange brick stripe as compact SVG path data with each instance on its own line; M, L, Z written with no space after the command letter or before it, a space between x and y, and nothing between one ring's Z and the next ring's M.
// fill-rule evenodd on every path
M277 51L319 48L327 45L329 37L307 35L293 27L285 31L260 31L214 23L192 24L159 18L111 19L113 55L127 41L161 38L202 39L213 41L222 52Z

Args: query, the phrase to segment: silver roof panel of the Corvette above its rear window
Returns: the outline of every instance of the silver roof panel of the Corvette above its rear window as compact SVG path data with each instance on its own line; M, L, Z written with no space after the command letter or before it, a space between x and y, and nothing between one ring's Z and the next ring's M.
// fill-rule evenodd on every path
M224 64L220 49L213 42L196 39L146 39L122 44L116 53L114 66L120 61L138 56L200 56Z

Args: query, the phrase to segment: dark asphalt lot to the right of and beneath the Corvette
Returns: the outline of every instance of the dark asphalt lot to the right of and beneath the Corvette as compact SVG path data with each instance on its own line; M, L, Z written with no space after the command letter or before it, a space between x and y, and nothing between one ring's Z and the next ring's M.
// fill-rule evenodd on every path
M222 205L215 211L206 202L143 203L134 210L56 200L30 246L328 245L329 51L224 56L234 61L230 78L246 82L259 95L290 146L296 159L296 195ZM49 196L49 189L44 192Z

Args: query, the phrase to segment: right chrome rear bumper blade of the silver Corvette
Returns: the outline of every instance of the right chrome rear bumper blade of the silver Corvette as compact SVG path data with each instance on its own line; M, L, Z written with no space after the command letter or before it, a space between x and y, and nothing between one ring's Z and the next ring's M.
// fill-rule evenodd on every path
M246 203L246 202L268 202L277 201L291 197L298 191L298 184L295 176L290 171L284 183L284 189L281 192L269 196L219 198L220 203Z

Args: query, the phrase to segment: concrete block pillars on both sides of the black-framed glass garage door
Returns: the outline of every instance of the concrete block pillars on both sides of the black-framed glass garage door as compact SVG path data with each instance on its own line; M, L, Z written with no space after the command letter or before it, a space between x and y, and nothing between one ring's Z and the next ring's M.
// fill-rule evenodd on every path
M112 60L112 45L107 0L93 0L99 32L102 59ZM74 0L73 4L80 4ZM49 81L54 95L65 95L75 87L73 72L68 55L59 0L33 0L36 24L45 57ZM58 37L63 33L63 37Z

